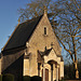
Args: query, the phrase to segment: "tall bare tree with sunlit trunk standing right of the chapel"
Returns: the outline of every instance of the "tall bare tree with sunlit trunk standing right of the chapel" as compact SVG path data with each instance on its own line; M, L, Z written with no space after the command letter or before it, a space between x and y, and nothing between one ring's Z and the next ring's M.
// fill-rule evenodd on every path
M55 33L70 55L75 65L76 78L79 78L78 71L78 55L81 51L81 1L69 0L60 1L63 11L57 15L58 26Z

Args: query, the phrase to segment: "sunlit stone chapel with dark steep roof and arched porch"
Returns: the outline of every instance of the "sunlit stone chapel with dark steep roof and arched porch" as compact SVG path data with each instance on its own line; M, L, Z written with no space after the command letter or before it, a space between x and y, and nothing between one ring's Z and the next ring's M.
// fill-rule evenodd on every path
M43 81L64 78L62 48L54 35L48 14L18 24L1 51L0 73L39 76Z

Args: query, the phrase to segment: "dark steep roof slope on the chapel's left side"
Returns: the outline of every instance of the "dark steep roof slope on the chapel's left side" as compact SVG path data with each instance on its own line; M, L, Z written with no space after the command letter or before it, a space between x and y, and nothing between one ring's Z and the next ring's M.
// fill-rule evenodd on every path
M26 45L41 17L42 15L19 24L4 45L3 51Z

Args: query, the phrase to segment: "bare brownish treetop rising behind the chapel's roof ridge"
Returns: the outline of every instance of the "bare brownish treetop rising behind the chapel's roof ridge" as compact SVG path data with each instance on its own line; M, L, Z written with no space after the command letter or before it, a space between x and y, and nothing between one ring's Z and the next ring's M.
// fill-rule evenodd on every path
M21 22L42 15L44 6L48 9L48 12L50 12L51 2L52 0L31 0L31 3L27 3L25 9L18 10Z

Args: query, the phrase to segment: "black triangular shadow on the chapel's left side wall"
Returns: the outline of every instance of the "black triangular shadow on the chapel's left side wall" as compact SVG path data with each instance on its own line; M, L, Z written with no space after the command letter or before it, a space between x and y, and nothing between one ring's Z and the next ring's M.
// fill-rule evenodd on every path
M24 54L12 63L5 70L2 71L2 75L12 73L14 75L14 81L23 80L23 64L24 64Z

